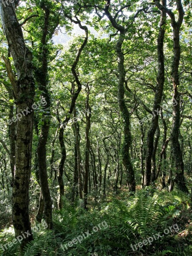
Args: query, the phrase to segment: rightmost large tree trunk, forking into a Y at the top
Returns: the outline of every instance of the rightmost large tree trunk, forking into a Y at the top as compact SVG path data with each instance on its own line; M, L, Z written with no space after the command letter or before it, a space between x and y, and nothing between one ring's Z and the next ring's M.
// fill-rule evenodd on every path
M159 1L155 1L156 6L166 11L171 18L171 24L173 28L173 52L174 58L172 61L172 81L173 81L173 121L171 131L171 143L173 158L175 160L175 183L183 192L189 192L185 177L184 177L184 164L183 156L179 143L179 128L180 128L180 93L178 92L179 86L179 63L180 63L180 27L183 23L183 6L182 1L176 1L176 7L178 11L178 19L175 20L175 14L170 9L165 9Z

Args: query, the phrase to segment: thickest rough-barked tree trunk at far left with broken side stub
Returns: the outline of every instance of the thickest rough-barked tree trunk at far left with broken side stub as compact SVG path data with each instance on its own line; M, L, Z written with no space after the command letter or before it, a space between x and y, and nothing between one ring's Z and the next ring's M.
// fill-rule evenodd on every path
M17 237L26 231L29 231L29 234L31 234L29 221L29 179L31 174L33 135L32 104L35 94L35 83L32 71L32 54L26 48L23 32L15 14L15 5L9 3L8 6L4 6L2 0L0 0L0 16L9 49L15 63L17 81L15 81L9 61L5 60L6 68L13 86L17 114L22 116L16 123L15 174L12 190L12 218L15 236ZM27 110L27 112L23 110ZM26 113L23 115L21 111ZM21 248L30 240L32 240L32 235L23 239Z

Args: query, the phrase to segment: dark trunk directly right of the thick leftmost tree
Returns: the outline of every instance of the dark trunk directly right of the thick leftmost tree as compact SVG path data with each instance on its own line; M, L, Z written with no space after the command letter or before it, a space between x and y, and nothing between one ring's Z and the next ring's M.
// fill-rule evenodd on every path
M49 41L49 16L50 11L44 4L41 5L41 8L44 10L44 27L43 34L41 38L41 54L39 55L39 61L42 63L41 68L35 72L36 79L39 84L39 90L43 91L44 94L42 97L45 98L47 103L46 116L41 119L41 133L38 140L38 170L40 178L40 186L42 198L44 200L44 216L45 221L47 222L48 228L52 228L52 198L49 190L48 175L47 175L47 151L46 145L49 136L49 127L50 127L50 96L48 90L48 47L47 43ZM42 200L40 198L40 202Z

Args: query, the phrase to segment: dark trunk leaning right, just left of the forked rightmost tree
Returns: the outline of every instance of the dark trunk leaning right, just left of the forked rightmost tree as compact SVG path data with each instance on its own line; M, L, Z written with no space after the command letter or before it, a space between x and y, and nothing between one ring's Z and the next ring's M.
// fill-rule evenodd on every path
M163 6L166 7L166 0L162 0ZM157 88L154 96L153 105L153 118L151 122L151 127L147 135L147 151L145 158L145 178L144 186L149 186L151 183L151 159L154 150L154 135L158 126L160 104L163 96L163 86L165 81L165 67L164 67L164 36L165 36L165 25L166 25L166 12L161 11L160 29L157 39L157 54L158 54L158 74L157 74ZM153 175L153 180L155 175Z

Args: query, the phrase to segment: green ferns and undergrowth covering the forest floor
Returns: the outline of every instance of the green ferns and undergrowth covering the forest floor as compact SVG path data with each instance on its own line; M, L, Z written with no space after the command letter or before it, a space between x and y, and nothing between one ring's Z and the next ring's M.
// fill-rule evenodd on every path
M42 256L192 255L192 211L189 198L182 192L159 192L149 187L137 191L129 198L122 192L118 198L115 194L106 198L100 204L100 211L93 208L85 211L79 200L72 205L67 198L63 198L63 203L63 209L53 214L53 230L40 230L36 233L35 240L27 245L24 256L35 256L38 253ZM105 227L102 223L105 223ZM98 230L93 232L93 227L99 224ZM172 230L151 242L151 245L143 245L134 251L131 249L131 244L138 244L153 234L163 234L165 229L174 224L179 230ZM4 230L0 234L1 244L14 238L13 233L8 231ZM88 237L87 231L90 233ZM83 234L86 238L82 241L68 245ZM18 244L4 253L0 250L2 256L18 255Z

